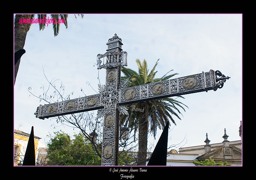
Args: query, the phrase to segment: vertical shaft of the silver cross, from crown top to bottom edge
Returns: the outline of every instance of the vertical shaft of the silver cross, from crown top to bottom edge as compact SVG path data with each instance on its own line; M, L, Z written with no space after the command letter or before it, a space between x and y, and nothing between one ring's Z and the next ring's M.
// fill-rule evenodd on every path
M105 91L102 95L104 104L103 110L103 137L102 137L102 155L101 165L118 165L118 143L119 143L119 111L117 102L119 101L120 84L120 66L111 66L113 63L119 63L122 56L116 55L122 51L121 39L115 34L113 38L106 43L108 46L107 54L102 59L106 67ZM110 66L108 66L110 65Z

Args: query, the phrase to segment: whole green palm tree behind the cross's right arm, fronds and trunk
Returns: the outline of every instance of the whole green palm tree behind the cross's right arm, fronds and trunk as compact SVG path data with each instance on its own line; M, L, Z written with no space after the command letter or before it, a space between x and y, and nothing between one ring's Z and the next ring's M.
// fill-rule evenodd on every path
M143 84L149 84L149 83L168 80L169 78L177 74L175 73L171 75L166 75L167 74L166 73L161 78L155 78L157 71L156 72L154 71L158 64L158 61L159 59L157 60L155 66L149 73L149 70L147 69L146 61L143 60L141 64L140 60L137 59L136 63L139 69L138 73L132 69L122 67L121 71L124 73L124 76L121 77L121 80L125 80L126 78L129 77L130 84L127 87L133 87L133 86L139 86ZM182 96L178 96L178 97L183 98ZM149 124L150 124L150 132L153 133L155 138L157 128L160 128L160 129L164 128L166 123L170 123L169 120L171 120L176 125L172 117L173 115L176 116L178 119L181 119L179 117L179 114L181 114L181 112L178 108L181 108L185 111L182 105L184 104L182 104L181 102L178 102L173 98L162 98L162 99L150 100L147 102L132 104L131 106L133 107L135 106L136 108L142 111L132 111L132 109L129 108L129 115L127 116L123 115L121 117L120 121L122 124L126 123L127 125L127 123L129 123L129 127L134 128L135 130L134 136L136 134L137 127L138 127L139 150L138 150L137 165L145 165L145 162L146 162L147 134L149 131ZM186 105L184 106L187 107Z

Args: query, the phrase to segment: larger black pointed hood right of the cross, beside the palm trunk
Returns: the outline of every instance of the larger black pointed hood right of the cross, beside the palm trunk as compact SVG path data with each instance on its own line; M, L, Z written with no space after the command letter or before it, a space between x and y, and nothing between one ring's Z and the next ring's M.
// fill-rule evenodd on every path
M168 129L169 122L165 125L147 166L166 166Z

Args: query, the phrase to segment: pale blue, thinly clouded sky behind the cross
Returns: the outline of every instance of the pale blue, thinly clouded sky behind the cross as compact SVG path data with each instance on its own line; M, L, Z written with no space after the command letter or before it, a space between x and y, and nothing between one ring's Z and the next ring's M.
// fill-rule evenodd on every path
M127 52L128 68L137 70L136 59L145 59L152 69L160 59L157 77L171 69L174 78L220 70L231 78L222 89L183 95L179 99L189 107L182 112L182 120L171 123L168 144L183 147L204 144L205 134L211 143L222 142L224 128L228 140L240 140L242 120L242 15L241 14L85 14L83 19L68 15L68 28L61 24L54 37L52 25L39 31L33 24L27 33L21 63L14 87L14 129L29 133L34 126L35 136L43 139L54 131L73 134L73 128L57 127L54 120L35 118L40 102L30 96L28 87L36 95L40 87L48 87L49 80L59 79L65 94L71 98L96 94L99 81L105 84L105 70L97 70L97 54L106 52L106 42L115 33L122 39ZM95 66L94 66L95 65ZM42 68L43 67L43 68ZM75 131L77 133L78 131ZM159 130L161 135L162 130ZM157 140L156 140L157 141ZM155 143L156 143L155 141ZM178 148L178 146L177 146Z

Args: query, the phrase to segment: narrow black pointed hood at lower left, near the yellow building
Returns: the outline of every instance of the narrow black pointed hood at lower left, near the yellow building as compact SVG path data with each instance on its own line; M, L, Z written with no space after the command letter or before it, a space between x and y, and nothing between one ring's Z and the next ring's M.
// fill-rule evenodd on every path
M35 156L35 142L34 142L34 127L31 128L31 133L27 142L27 149L23 160L23 166L35 166L36 156Z

